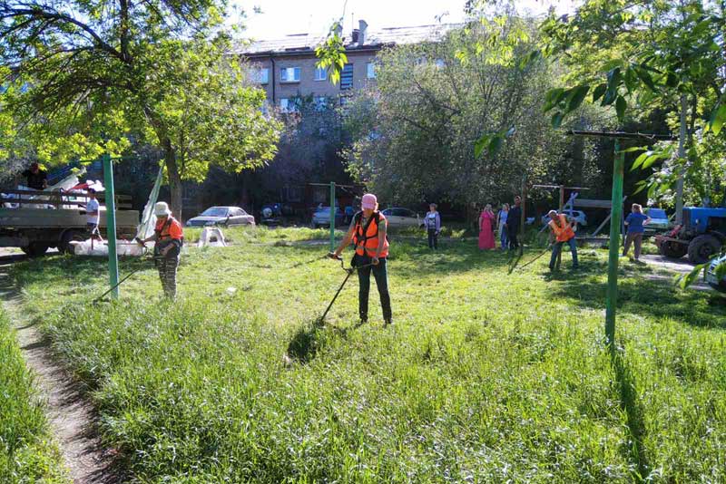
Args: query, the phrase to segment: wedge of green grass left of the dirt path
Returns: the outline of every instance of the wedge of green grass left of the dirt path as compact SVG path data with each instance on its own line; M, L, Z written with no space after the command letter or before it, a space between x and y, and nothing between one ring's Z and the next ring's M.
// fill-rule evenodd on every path
M7 316L0 312L0 482L67 482Z

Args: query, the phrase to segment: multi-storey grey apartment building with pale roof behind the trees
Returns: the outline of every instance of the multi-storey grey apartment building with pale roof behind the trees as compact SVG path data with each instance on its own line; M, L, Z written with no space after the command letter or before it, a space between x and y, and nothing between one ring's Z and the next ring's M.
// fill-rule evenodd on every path
M353 89L376 80L376 55L381 49L397 44L436 42L459 24L434 24L415 27L370 28L358 22L343 37L348 63L340 82L329 82L325 69L316 66L315 48L325 39L311 34L289 34L280 39L261 40L236 52L253 65L253 78L267 92L270 104L282 111L294 111L300 97L312 96L316 102L345 102Z

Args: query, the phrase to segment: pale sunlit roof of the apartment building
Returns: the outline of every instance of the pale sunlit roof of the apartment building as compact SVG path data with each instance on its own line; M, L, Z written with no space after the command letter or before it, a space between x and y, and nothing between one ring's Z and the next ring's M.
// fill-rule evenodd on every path
M347 51L379 49L391 44L418 44L437 42L449 31L461 27L462 24L433 24L413 27L385 27L366 31L365 44L350 43L350 35L344 37ZM248 45L240 45L233 53L260 55L263 53L305 53L315 52L315 47L325 40L325 36L316 34L289 34L282 38L253 41Z

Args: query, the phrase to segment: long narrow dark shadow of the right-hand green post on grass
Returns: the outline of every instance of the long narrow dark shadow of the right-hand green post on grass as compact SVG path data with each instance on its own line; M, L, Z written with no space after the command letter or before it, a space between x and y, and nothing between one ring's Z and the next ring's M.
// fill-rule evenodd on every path
M634 480L643 482L648 477L650 469L648 456L645 454L645 448L643 446L643 436L645 434L643 408L640 402L638 402L638 393L635 390L635 378L630 366L624 360L623 355L622 349L615 349L611 345L610 360L613 364L615 381L617 382L618 392L620 393L620 407L625 412L625 417L627 418L626 428L629 438L623 443L623 453L633 463L633 468L637 469L637 474L633 476Z

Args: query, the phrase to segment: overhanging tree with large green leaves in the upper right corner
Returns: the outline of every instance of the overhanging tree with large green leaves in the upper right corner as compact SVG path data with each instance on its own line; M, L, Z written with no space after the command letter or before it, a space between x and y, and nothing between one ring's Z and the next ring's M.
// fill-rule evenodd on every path
M572 73L572 87L547 95L555 125L588 93L593 102L614 106L621 122L628 112L643 116L657 108L677 113L672 128L679 132L678 150L663 143L634 162L644 169L663 162L650 180L649 195L672 198L677 221L683 180L694 179L701 167L696 156L702 149L696 145L712 145L726 121L723 8L699 0L588 0L575 15L553 16L542 25L541 52Z

